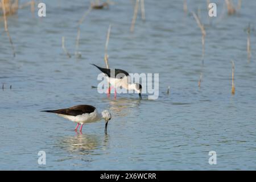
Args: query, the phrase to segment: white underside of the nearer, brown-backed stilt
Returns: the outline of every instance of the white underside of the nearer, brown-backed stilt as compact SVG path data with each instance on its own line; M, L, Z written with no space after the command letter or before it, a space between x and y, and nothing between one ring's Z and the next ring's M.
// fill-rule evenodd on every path
M92 123L100 120L100 115L98 114L97 110L94 110L92 113L88 114L82 114L82 115L64 115L64 114L58 114L60 117L63 117L65 119L68 119L70 121L76 122L76 123Z

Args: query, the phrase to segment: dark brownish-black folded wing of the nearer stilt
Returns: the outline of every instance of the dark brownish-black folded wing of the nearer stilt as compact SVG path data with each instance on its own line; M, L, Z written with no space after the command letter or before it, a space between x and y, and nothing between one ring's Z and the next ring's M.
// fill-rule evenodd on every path
M43 112L77 116L77 115L82 115L86 113L88 114L93 113L95 109L96 109L95 107L90 105L77 105L77 106L69 107L67 109L43 110Z

